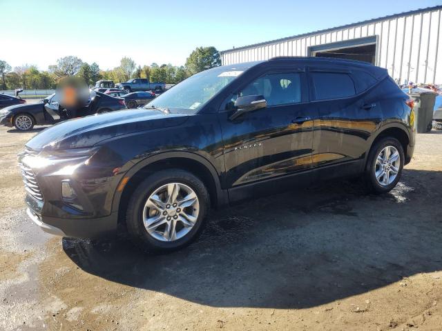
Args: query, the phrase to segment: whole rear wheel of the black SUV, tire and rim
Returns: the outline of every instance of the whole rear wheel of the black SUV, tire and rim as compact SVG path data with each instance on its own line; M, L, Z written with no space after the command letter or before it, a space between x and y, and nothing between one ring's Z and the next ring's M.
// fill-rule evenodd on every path
M389 148L390 152L387 152L386 148ZM394 157L396 152L398 159ZM390 157L387 157L384 163L385 153L390 154ZM369 192L375 194L390 192L401 179L404 160L403 147L397 139L385 137L377 141L369 152L365 167L364 179Z

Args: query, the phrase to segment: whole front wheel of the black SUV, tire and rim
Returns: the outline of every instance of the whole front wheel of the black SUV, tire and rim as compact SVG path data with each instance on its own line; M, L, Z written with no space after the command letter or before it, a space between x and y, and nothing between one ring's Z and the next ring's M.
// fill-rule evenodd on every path
M173 190L169 191L170 187ZM176 203L167 203L168 196L173 197L173 194L177 194L175 199L172 198ZM189 201L183 202L184 197L189 197ZM155 201L155 207L151 201ZM140 183L128 202L128 234L135 245L147 252L171 252L184 248L200 234L209 206L209 193L198 177L179 169L155 172ZM150 230L144 225L144 216L146 224L153 225ZM169 232L166 231L168 229Z

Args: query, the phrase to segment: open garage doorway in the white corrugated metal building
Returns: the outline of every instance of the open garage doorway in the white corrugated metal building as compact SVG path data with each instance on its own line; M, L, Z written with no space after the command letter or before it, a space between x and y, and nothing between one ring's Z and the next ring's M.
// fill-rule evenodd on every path
M376 36L309 47L311 57L333 57L376 64Z

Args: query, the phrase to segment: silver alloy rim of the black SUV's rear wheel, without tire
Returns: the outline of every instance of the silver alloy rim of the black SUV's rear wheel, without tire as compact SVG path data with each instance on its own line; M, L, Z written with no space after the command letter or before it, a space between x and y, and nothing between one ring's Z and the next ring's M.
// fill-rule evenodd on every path
M401 154L394 146L386 146L376 157L374 175L382 186L390 185L401 168Z

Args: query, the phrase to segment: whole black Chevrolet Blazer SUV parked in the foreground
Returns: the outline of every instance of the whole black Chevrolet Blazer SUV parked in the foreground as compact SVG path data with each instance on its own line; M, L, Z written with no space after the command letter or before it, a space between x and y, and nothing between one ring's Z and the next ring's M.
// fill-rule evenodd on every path
M28 141L19 163L28 214L46 232L126 227L164 251L233 201L349 176L390 191L414 137L412 101L386 70L292 57L213 68L144 109L59 123Z

